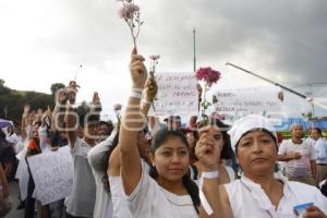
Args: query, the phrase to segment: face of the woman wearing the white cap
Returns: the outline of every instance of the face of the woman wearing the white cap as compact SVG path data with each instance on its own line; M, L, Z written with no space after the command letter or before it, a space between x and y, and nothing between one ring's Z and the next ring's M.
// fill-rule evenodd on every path
M263 131L250 132L240 140L237 157L245 174L274 172L277 160L276 142Z

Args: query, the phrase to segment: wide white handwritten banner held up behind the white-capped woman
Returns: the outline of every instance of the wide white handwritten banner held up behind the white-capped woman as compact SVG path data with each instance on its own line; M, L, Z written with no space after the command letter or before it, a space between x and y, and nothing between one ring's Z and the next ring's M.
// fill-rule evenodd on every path
M215 110L227 120L235 120L246 114L262 114L281 111L278 89L267 87L217 90Z

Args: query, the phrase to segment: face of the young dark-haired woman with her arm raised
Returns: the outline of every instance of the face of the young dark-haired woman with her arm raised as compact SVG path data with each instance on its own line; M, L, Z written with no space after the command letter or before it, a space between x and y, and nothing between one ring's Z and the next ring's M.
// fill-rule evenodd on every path
M169 181L179 181L189 170L189 148L177 136L170 136L155 152L154 165L159 177Z

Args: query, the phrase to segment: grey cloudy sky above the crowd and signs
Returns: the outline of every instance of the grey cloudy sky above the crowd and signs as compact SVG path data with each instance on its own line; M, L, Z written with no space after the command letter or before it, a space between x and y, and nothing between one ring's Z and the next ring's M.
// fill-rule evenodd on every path
M227 68L232 62L302 93L327 83L326 0L140 0L145 22L138 51L160 53L158 71L193 71L193 27L197 66L221 71L214 89L267 86ZM0 0L0 77L5 85L50 93L56 82L74 78L78 99L97 90L106 111L129 95L132 40L118 17L116 0ZM303 85L304 84L304 85ZM313 87L327 104L327 84ZM310 111L304 100L286 94L290 114ZM327 116L327 110L316 110Z

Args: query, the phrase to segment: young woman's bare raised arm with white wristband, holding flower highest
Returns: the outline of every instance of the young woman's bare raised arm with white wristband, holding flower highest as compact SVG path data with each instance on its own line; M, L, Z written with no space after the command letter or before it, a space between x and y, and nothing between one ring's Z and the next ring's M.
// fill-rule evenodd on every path
M119 149L121 158L121 178L124 191L130 195L142 177L137 135L146 121L141 113L140 105L147 71L143 63L144 58L138 56L134 48L131 57L130 72L132 77L132 94L120 126Z

